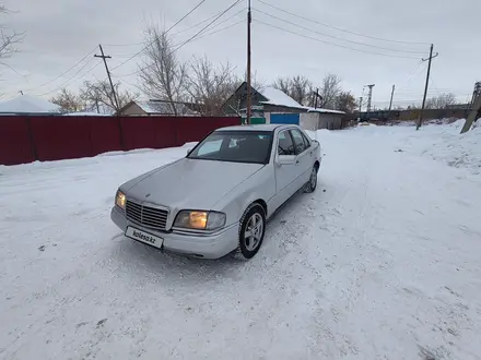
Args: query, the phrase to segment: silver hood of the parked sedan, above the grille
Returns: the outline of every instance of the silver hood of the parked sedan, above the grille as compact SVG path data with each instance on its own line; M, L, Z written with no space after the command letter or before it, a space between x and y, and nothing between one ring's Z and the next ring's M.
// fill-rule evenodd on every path
M179 209L212 209L265 165L184 158L121 187L127 197Z

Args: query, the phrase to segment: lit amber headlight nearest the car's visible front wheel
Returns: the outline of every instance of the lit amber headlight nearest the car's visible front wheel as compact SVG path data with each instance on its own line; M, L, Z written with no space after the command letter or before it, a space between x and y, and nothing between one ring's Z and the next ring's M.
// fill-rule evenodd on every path
M215 230L225 225L225 214L216 212L181 211L174 221L175 228Z

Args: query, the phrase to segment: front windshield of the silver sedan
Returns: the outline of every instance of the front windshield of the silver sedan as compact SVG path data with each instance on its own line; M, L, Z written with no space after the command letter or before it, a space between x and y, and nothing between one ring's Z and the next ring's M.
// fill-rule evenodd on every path
M215 131L189 154L190 159L267 164L272 132Z

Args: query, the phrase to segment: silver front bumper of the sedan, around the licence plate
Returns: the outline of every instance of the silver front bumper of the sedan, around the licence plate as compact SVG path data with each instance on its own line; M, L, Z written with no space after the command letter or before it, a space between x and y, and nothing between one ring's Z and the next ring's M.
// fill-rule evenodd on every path
M203 259L219 259L234 251L238 243L238 224L231 225L214 235L199 237L175 232L154 231L127 219L125 213L117 206L112 208L110 218L124 232L128 226L132 226L139 230L163 238L164 242L161 250L167 252Z

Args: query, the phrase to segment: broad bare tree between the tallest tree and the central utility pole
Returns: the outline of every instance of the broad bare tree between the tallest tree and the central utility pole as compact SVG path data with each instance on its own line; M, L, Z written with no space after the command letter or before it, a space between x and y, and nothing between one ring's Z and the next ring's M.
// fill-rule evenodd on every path
M222 113L221 107L238 87L239 80L234 68L226 64L214 67L207 57L195 58L190 63L187 92L202 104L202 112L210 116Z

